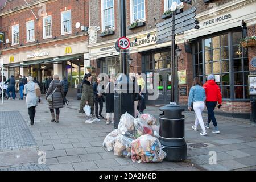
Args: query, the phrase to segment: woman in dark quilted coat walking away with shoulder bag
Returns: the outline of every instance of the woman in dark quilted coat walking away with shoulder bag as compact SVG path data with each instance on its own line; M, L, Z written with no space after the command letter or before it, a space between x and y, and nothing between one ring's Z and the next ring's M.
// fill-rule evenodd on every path
M59 122L60 108L63 108L63 86L60 82L59 75L53 75L53 80L49 84L49 88L46 93L46 99L52 94L52 101L48 102L49 109L51 111L51 122ZM56 115L54 114L54 109Z

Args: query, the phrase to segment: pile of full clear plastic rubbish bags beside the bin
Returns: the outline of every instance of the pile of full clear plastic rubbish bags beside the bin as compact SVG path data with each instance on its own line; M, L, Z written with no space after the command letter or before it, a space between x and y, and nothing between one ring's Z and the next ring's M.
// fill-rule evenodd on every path
M121 116L118 129L109 133L103 146L114 151L115 156L131 158L133 162L162 162L166 152L158 140L159 125L150 114L134 118L129 113Z

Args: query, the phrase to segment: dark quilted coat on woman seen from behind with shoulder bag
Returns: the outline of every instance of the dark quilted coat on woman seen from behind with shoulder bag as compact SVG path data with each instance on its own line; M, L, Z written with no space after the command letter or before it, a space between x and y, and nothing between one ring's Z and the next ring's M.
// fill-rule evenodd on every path
M57 88L55 90L55 88ZM52 80L51 84L49 85L49 89L47 90L46 98L51 94L53 91L53 101L48 102L49 109L56 109L56 108L63 108L63 86L60 80Z

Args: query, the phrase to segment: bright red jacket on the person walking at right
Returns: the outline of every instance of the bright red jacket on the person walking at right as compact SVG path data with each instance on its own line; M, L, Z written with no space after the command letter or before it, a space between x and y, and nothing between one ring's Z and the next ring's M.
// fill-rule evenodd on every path
M206 101L222 103L222 96L220 92L220 87L216 84L214 80L208 80L204 85Z

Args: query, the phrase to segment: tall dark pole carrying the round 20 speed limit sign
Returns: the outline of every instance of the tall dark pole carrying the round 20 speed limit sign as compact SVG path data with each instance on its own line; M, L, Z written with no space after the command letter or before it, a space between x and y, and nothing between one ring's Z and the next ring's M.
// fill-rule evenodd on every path
M126 36L126 0L119 0L120 37ZM126 50L120 50L121 73L127 74Z

